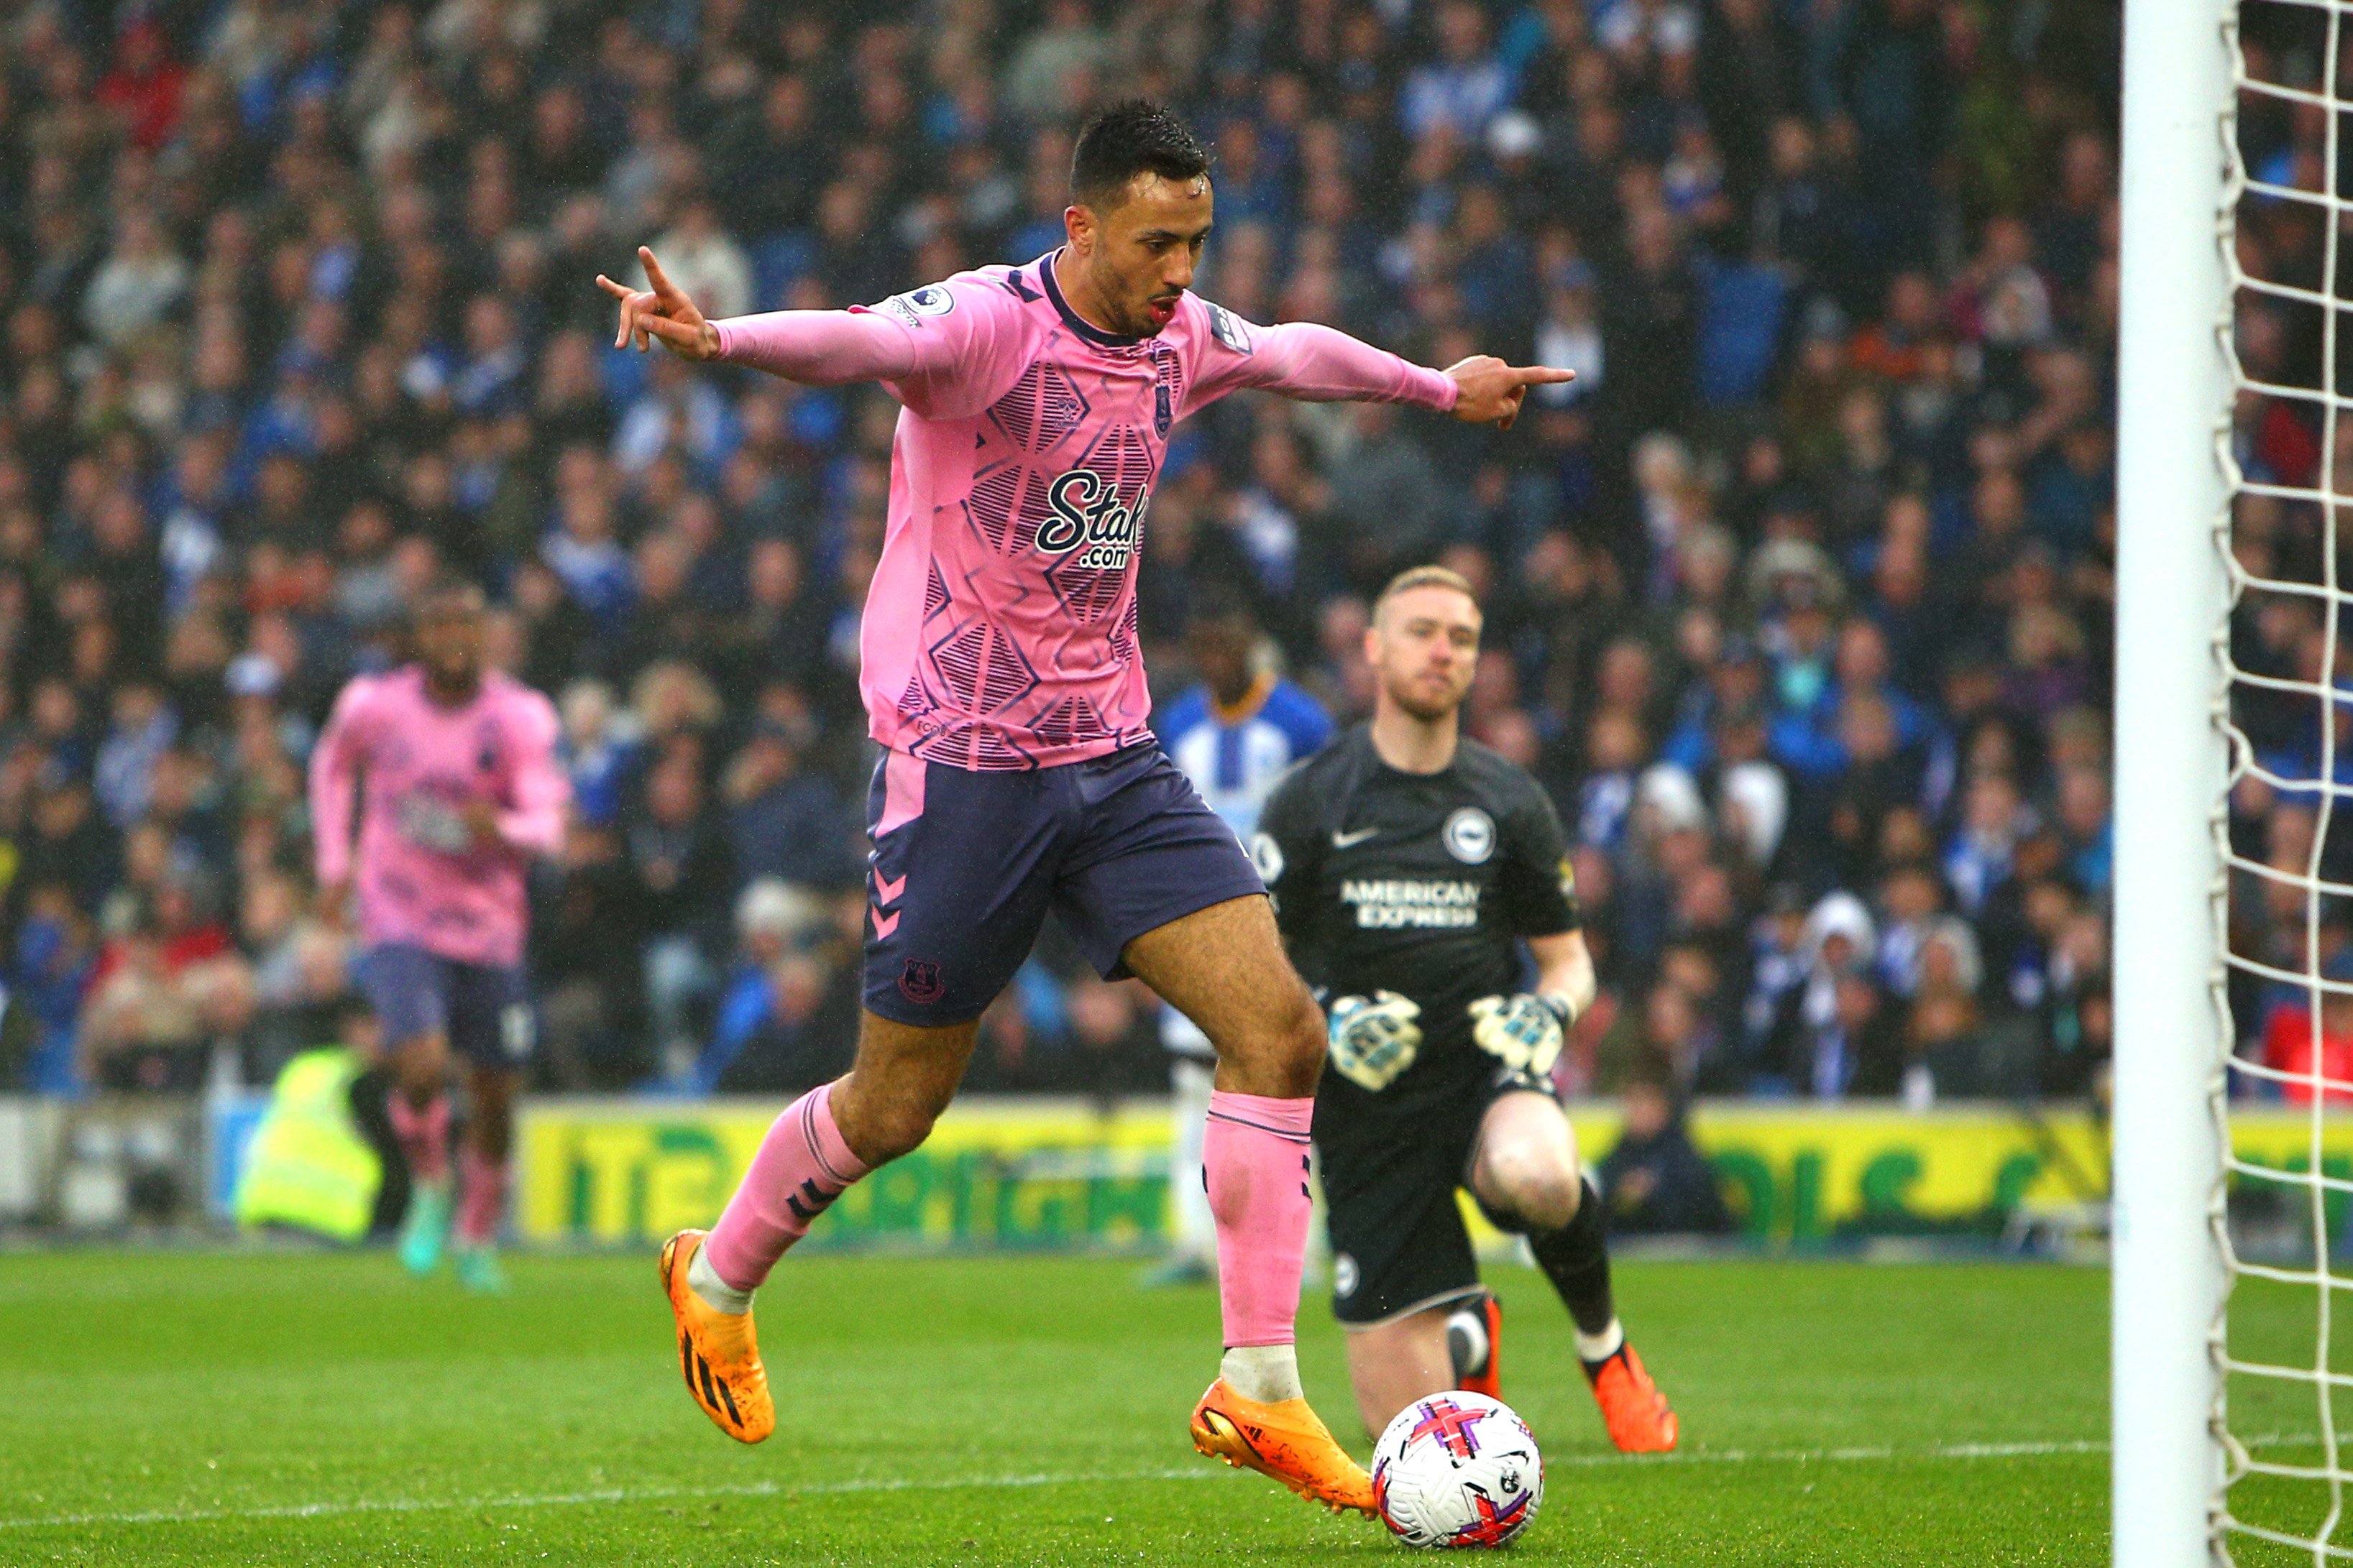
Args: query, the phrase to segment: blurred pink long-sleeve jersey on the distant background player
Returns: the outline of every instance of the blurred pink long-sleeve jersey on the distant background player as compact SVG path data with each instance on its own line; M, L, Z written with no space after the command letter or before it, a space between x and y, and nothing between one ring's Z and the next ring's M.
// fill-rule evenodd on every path
M353 875L360 788L358 912L369 945L400 943L461 964L522 961L522 877L562 846L572 783L555 764L555 705L489 672L464 708L426 693L424 670L344 686L311 752L318 879ZM461 813L496 809L499 844L478 849Z

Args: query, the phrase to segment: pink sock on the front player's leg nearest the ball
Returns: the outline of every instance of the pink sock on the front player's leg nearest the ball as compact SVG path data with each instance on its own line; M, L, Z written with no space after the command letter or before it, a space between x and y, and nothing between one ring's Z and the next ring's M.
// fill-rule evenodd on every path
M1308 1255L1308 1126L1315 1100L1209 1093L1200 1164L1217 1215L1226 1349L1289 1345Z

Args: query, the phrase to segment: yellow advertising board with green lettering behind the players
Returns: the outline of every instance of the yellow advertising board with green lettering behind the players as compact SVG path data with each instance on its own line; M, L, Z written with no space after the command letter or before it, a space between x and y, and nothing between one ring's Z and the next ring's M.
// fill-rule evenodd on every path
M525 1239L647 1244L708 1225L781 1105L772 1100L541 1100L520 1128ZM1617 1143L1617 1110L1572 1107L1588 1161ZM2238 1154L2311 1166L2311 1121L2242 1110ZM1708 1103L1692 1138L1746 1234L1995 1229L2026 1208L2106 1197L2108 1133L2085 1110ZM1101 1114L1078 1100L967 1100L932 1140L852 1187L812 1246L1136 1248L1165 1229L1167 1110ZM2322 1124L2322 1168L2353 1178L2353 1117ZM2341 1218L2341 1215L2339 1215Z

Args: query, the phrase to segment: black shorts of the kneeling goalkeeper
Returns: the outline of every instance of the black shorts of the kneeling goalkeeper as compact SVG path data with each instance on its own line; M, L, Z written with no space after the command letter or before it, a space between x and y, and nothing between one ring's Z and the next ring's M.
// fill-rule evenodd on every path
M1522 1091L1551 1093L1525 1074L1497 1072L1435 1103L1417 1095L1409 1112L1400 1105L1398 1112L1327 1117L1325 1105L1315 1107L1332 1234L1332 1316L1348 1328L1372 1328L1480 1293L1478 1258L1454 1194L1471 1185L1471 1154L1487 1107Z

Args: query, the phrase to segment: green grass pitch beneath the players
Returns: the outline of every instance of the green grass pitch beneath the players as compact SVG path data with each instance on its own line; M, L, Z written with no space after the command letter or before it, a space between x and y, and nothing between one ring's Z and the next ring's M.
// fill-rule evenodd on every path
M760 1448L687 1401L652 1255L513 1276L478 1300L381 1253L0 1255L0 1563L1407 1561L1193 1455L1217 1298L1139 1293L1132 1262L795 1258L760 1298ZM2104 1272L1621 1265L1682 1413L1668 1460L1607 1448L1544 1281L1494 1281L1548 1458L1515 1561L2108 1559ZM1301 1359L1362 1453L1315 1300Z

